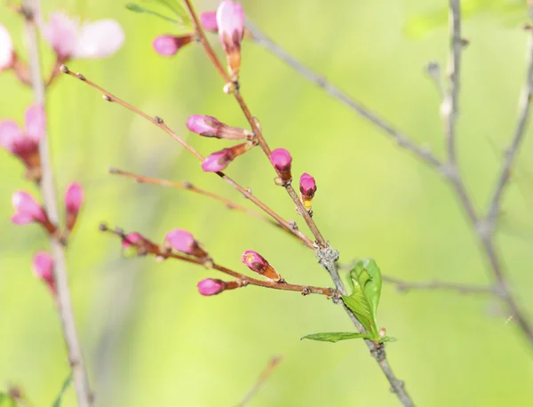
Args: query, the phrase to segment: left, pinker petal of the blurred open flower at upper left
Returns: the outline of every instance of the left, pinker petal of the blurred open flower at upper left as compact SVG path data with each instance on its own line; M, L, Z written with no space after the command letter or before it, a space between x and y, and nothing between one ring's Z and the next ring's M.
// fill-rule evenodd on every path
M52 12L50 22L43 28L43 36L58 54L60 60L68 60L76 48L79 22L62 12Z

